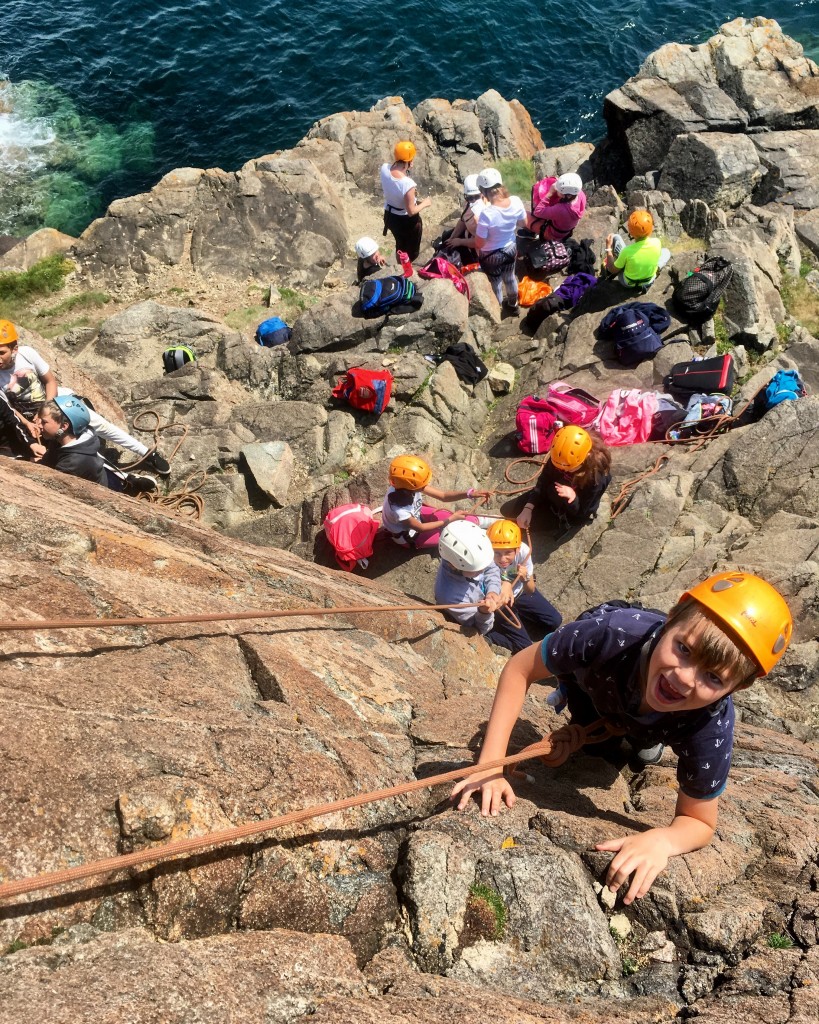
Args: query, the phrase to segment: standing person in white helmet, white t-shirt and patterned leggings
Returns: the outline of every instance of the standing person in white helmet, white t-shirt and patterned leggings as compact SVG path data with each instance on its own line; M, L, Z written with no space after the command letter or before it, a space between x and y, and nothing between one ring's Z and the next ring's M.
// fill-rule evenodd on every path
M501 172L487 167L478 175L478 187L486 203L478 213L475 237L460 241L478 254L480 268L489 279L499 302L504 300L512 312L518 311L518 258L516 231L526 226L526 211L517 196L510 196Z

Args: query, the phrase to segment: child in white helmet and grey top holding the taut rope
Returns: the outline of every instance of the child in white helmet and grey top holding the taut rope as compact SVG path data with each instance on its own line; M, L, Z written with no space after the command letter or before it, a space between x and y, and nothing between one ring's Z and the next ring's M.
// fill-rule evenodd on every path
M441 530L438 553L441 564L435 577L435 603L476 602L476 608L450 608L444 614L499 643L494 611L501 605L501 570L486 534L474 522L448 522Z

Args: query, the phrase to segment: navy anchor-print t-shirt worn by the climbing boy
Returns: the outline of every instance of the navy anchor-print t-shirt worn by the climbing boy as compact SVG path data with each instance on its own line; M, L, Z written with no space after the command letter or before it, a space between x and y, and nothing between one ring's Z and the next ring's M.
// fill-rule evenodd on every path
M681 791L709 800L728 780L734 703L726 696L697 711L639 713L641 674L664 622L659 611L601 604L551 633L541 652L564 687L578 686L601 716L627 729L641 746L671 746Z

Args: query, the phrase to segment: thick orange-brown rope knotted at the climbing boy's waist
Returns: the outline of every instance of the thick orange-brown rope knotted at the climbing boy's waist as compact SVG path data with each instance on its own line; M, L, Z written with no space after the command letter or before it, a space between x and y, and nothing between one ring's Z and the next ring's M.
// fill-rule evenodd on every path
M345 797L343 800L334 800L327 804L319 804L317 807L306 807L300 811L291 811L289 814L281 814L277 817L267 818L264 821L249 821L243 825L235 825L232 828L207 833L204 836L196 836L191 839L177 840L164 846L152 847L135 853L106 857L102 860L93 860L87 864L80 864L77 867L68 867L59 871L49 871L32 878L6 882L0 885L0 900L10 899L12 896L21 896L26 893L39 892L44 889L53 889L56 886L67 885L71 882L80 882L98 874L111 874L128 868L139 867L142 864L160 864L175 857L199 853L201 850L206 850L209 847L226 846L239 840L250 839L262 833L284 828L287 825L296 824L300 821L309 821L312 818L335 814L338 811L346 811L351 807L361 807L364 804L374 804L382 800L392 800L395 797L402 797L407 793L415 793L418 790L440 785L443 782L454 782L457 779L468 778L470 775L478 772L504 768L507 765L519 764L521 761L538 759L550 767L555 768L563 764L571 754L587 743L600 743L610 736L617 735L622 735L622 731L608 725L603 719L593 722L588 726L565 725L545 736L540 742L532 743L517 754L512 754L506 758L499 758L495 761L488 761L482 765L467 765L464 768L457 768L454 771L442 772L439 775L432 775L428 778L418 778L413 779L411 782L401 782L386 790L376 790L372 793L362 793L355 797Z

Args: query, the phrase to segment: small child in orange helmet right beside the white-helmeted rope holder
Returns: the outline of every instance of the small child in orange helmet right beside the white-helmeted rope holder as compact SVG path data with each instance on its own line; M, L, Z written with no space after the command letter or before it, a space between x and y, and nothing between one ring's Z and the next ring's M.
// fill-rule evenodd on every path
M553 633L562 616L534 586L531 552L523 543L518 524L511 519L495 519L486 530L486 537L494 551L494 564L501 569L501 601L514 604L522 627L516 630L501 620L498 628L509 637L509 649L517 653L531 643L527 627L542 635Z

